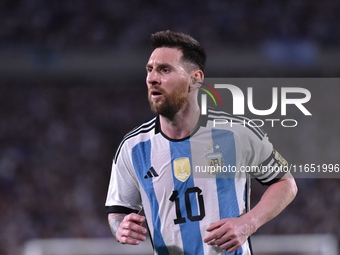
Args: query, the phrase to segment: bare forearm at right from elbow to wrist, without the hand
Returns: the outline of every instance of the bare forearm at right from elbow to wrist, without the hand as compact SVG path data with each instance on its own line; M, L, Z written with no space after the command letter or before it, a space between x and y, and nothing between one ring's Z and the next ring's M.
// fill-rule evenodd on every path
M244 215L249 217L251 232L256 232L259 227L282 212L293 201L296 193L295 180L290 173L269 186L257 205Z

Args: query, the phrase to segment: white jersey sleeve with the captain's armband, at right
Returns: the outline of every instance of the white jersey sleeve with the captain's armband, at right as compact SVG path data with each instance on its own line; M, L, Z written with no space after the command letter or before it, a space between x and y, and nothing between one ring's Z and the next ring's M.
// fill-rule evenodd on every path
M247 172L262 185L269 186L286 173L287 161L273 148L267 135L258 137L248 132L246 145Z

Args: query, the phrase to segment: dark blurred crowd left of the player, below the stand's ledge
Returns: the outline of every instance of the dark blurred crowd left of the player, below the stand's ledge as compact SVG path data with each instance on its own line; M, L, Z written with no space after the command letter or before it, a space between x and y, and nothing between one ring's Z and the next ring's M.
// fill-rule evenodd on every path
M32 238L110 236L112 159L143 121L128 104L142 98L125 99L87 86L0 87L1 255Z

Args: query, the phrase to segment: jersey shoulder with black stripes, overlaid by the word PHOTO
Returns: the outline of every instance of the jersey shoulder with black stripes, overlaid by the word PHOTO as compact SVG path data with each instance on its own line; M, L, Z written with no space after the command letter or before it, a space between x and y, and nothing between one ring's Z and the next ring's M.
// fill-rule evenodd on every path
M232 115L220 110L208 109L207 125L211 128L230 130L240 135L257 137L261 141L267 136L264 130L248 117Z

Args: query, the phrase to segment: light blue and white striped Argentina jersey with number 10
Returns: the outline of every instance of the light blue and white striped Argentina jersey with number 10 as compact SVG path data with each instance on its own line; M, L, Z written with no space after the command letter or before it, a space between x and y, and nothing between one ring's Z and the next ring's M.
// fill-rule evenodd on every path
M144 208L155 254L227 254L203 242L206 228L246 213L246 167L286 163L260 128L214 126L214 119L244 120L209 110L190 137L174 140L155 117L128 133L117 150L107 212ZM251 174L265 185L284 174L260 170ZM232 254L251 254L248 241Z

